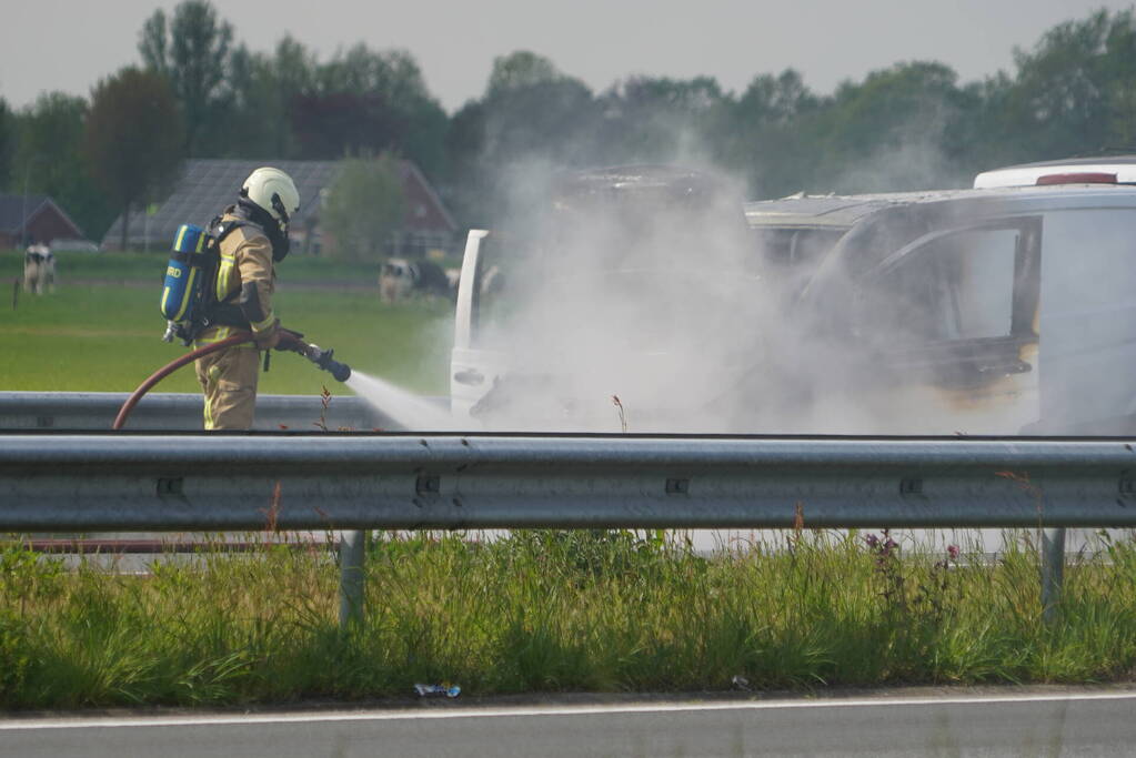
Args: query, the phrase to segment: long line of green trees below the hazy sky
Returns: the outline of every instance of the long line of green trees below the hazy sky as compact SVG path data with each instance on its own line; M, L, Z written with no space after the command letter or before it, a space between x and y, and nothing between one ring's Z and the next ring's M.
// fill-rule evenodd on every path
M542 170L721 167L751 197L920 189L1130 150L1134 129L1131 10L1059 24L1014 51L1012 71L978 82L909 61L829 94L792 68L738 93L709 76L630 76L596 92L516 51L446 113L408 51L359 43L320 60L292 36L251 51L209 0L184 0L144 20L139 62L89 98L48 92L19 110L0 99L0 187L52 195L99 238L118 213L160 201L187 157L387 154L415 161L461 222L492 226Z

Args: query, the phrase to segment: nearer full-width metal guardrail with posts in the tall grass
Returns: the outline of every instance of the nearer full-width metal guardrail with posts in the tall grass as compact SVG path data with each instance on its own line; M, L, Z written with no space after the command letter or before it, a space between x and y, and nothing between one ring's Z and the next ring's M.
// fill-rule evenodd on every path
M0 435L0 531L1136 527L1126 440ZM1044 549L1046 606L1063 540ZM341 546L344 622L362 538Z

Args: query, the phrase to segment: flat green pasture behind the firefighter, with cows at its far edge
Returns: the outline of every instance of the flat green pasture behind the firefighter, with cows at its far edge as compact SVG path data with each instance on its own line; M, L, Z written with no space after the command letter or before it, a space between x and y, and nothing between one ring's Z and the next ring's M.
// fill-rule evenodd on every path
M23 256L0 253L0 390L130 391L185 348L161 342L158 313L165 254L59 256L55 294L12 285ZM290 258L279 267L274 308L352 368L424 394L446 391L452 304L444 298L378 302L374 266ZM290 353L275 353L261 393L348 393L325 372ZM191 367L154 391L198 391Z

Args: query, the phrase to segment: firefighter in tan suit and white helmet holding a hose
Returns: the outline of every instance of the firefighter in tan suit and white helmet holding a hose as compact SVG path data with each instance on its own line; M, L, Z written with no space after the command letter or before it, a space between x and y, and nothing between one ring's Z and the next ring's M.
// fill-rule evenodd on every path
M197 335L194 347L241 331L251 331L254 342L198 359L207 430L252 427L260 352L276 347L283 334L272 306L275 263L287 255L287 225L299 210L300 193L292 177L277 168L258 168L245 179L236 203L215 224L220 239L212 284L216 304L210 326Z

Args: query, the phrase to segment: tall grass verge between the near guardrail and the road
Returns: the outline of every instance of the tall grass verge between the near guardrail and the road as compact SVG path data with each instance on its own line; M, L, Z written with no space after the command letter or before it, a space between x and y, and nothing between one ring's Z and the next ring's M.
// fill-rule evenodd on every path
M231 705L471 693L1093 682L1136 673L1136 546L1067 568L1041 623L1036 553L905 555L797 533L713 556L629 532L382 536L366 620L336 628L331 555L119 575L0 554L0 707Z

